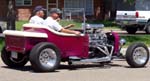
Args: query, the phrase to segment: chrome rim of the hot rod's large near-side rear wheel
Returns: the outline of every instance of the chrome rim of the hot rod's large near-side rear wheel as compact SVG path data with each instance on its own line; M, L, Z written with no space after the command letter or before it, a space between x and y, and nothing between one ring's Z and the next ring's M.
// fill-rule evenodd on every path
M40 53L39 60L44 67L52 68L56 64L56 52L50 48L44 49Z

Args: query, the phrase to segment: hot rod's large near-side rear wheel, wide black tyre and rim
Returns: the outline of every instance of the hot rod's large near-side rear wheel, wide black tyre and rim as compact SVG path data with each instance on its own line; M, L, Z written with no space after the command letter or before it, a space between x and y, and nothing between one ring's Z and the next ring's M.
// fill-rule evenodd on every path
M30 62L36 72L55 71L60 64L60 51L51 43L39 43L30 53Z

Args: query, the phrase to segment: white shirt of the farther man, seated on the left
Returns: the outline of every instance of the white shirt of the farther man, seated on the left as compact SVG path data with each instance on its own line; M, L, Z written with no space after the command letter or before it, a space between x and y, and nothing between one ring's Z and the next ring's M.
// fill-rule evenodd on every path
M29 20L29 23L31 24L38 24L38 25L43 25L44 19L39 17L39 16L33 16Z

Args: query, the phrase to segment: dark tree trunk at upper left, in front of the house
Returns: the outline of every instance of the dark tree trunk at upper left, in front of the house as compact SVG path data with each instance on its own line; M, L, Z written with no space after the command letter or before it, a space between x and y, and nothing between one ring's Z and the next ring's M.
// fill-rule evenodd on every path
M8 0L8 12L7 12L7 29L15 30L16 29L16 12L14 6L15 0Z

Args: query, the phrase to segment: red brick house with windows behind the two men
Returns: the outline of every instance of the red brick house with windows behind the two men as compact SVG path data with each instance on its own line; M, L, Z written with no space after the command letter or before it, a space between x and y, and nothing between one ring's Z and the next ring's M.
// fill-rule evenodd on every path
M9 0L1 0L0 19L4 19L7 15L7 4ZM18 20L28 20L32 14L32 10L37 5L42 5L47 10L50 8L84 8L88 17L102 19L103 18L103 0L13 0Z

